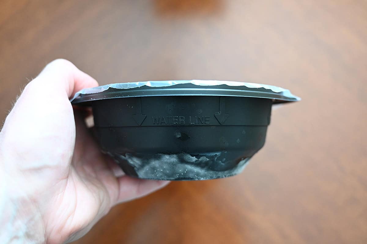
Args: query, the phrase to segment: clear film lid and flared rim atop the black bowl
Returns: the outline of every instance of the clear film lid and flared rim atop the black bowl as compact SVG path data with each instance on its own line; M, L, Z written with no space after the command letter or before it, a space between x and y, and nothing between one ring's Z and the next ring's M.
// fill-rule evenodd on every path
M273 99L273 103L301 100L289 90L273 85L218 80L169 80L115 83L86 88L70 99L73 104L141 96L243 96Z

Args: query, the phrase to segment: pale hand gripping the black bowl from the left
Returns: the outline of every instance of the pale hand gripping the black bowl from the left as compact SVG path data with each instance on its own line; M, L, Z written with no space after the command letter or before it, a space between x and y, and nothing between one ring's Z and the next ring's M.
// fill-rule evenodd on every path
M131 178L69 102L97 81L71 62L48 64L23 90L0 132L0 243L65 243L86 234L116 204L167 181Z

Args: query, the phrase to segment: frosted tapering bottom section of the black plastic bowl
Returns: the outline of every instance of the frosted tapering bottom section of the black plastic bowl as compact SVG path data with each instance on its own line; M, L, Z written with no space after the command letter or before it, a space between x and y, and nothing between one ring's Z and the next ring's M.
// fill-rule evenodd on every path
M106 152L115 159L126 175L155 180L205 180L239 174L251 157L240 157L227 151L203 154L120 154ZM232 155L231 155L232 154Z

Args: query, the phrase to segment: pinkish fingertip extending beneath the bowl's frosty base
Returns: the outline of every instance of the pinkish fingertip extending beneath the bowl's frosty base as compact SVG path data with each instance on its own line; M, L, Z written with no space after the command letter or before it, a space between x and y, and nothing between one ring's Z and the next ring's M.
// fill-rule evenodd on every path
M170 181L132 178L127 175L121 176L117 180L119 181L119 195L116 204L148 195L170 183Z

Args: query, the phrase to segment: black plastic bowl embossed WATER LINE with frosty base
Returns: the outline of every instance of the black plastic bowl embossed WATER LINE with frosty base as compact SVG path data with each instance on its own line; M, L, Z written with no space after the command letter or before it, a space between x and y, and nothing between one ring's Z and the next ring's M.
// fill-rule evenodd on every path
M101 90L72 103L92 106L102 150L127 175L160 180L238 174L264 146L272 104L299 100L266 86L207 83Z

